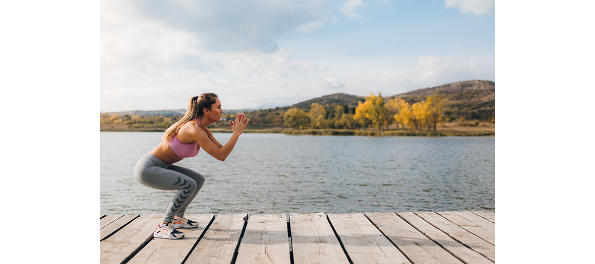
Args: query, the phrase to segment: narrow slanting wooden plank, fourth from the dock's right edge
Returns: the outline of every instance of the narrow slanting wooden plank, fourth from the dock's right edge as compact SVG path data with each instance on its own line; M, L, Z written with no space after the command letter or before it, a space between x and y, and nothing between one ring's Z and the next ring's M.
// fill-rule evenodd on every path
M493 264L491 260L480 255L480 253L468 249L463 244L454 240L452 237L449 237L447 234L429 224L418 215L415 215L412 212L399 212L397 215L415 227L415 229L419 230L426 237L430 238L437 244L440 244L441 247L443 247L446 251L450 252L462 262L468 264Z

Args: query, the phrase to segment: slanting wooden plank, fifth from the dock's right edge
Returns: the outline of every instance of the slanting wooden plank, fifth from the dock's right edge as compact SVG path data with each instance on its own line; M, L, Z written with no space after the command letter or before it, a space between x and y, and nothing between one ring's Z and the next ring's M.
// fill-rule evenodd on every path
M365 213L365 215L414 264L463 263L394 213Z

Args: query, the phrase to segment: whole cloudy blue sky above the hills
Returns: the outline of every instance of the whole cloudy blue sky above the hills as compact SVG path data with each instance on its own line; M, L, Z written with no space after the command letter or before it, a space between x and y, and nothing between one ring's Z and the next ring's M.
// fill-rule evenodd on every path
M493 0L99 1L99 110L268 109L496 81Z

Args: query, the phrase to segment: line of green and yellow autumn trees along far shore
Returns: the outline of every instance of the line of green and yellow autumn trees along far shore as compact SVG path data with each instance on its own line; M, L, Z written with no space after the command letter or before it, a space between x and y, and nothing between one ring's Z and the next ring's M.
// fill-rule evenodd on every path
M275 109L255 110L246 113L250 125L285 126L292 129L367 129L376 128L383 133L385 127L396 125L396 129L410 129L417 131L433 130L444 122L443 94L435 92L425 100L408 103L402 98L387 100L380 93L372 93L365 101L358 101L356 107L345 104L335 104L324 107L312 103L310 109L299 107L277 107ZM328 111L327 111L328 109ZM129 128L162 128L167 129L171 124L181 119L181 115L109 115L100 114L101 124L126 124ZM226 128L227 120L234 120L235 113L224 113L223 122L213 123L209 127Z

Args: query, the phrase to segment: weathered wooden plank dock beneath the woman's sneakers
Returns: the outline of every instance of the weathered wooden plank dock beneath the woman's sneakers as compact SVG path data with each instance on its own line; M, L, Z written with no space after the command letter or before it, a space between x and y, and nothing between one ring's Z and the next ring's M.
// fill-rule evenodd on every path
M496 262L496 213L186 214L184 238L153 238L162 215L101 215L101 263Z

